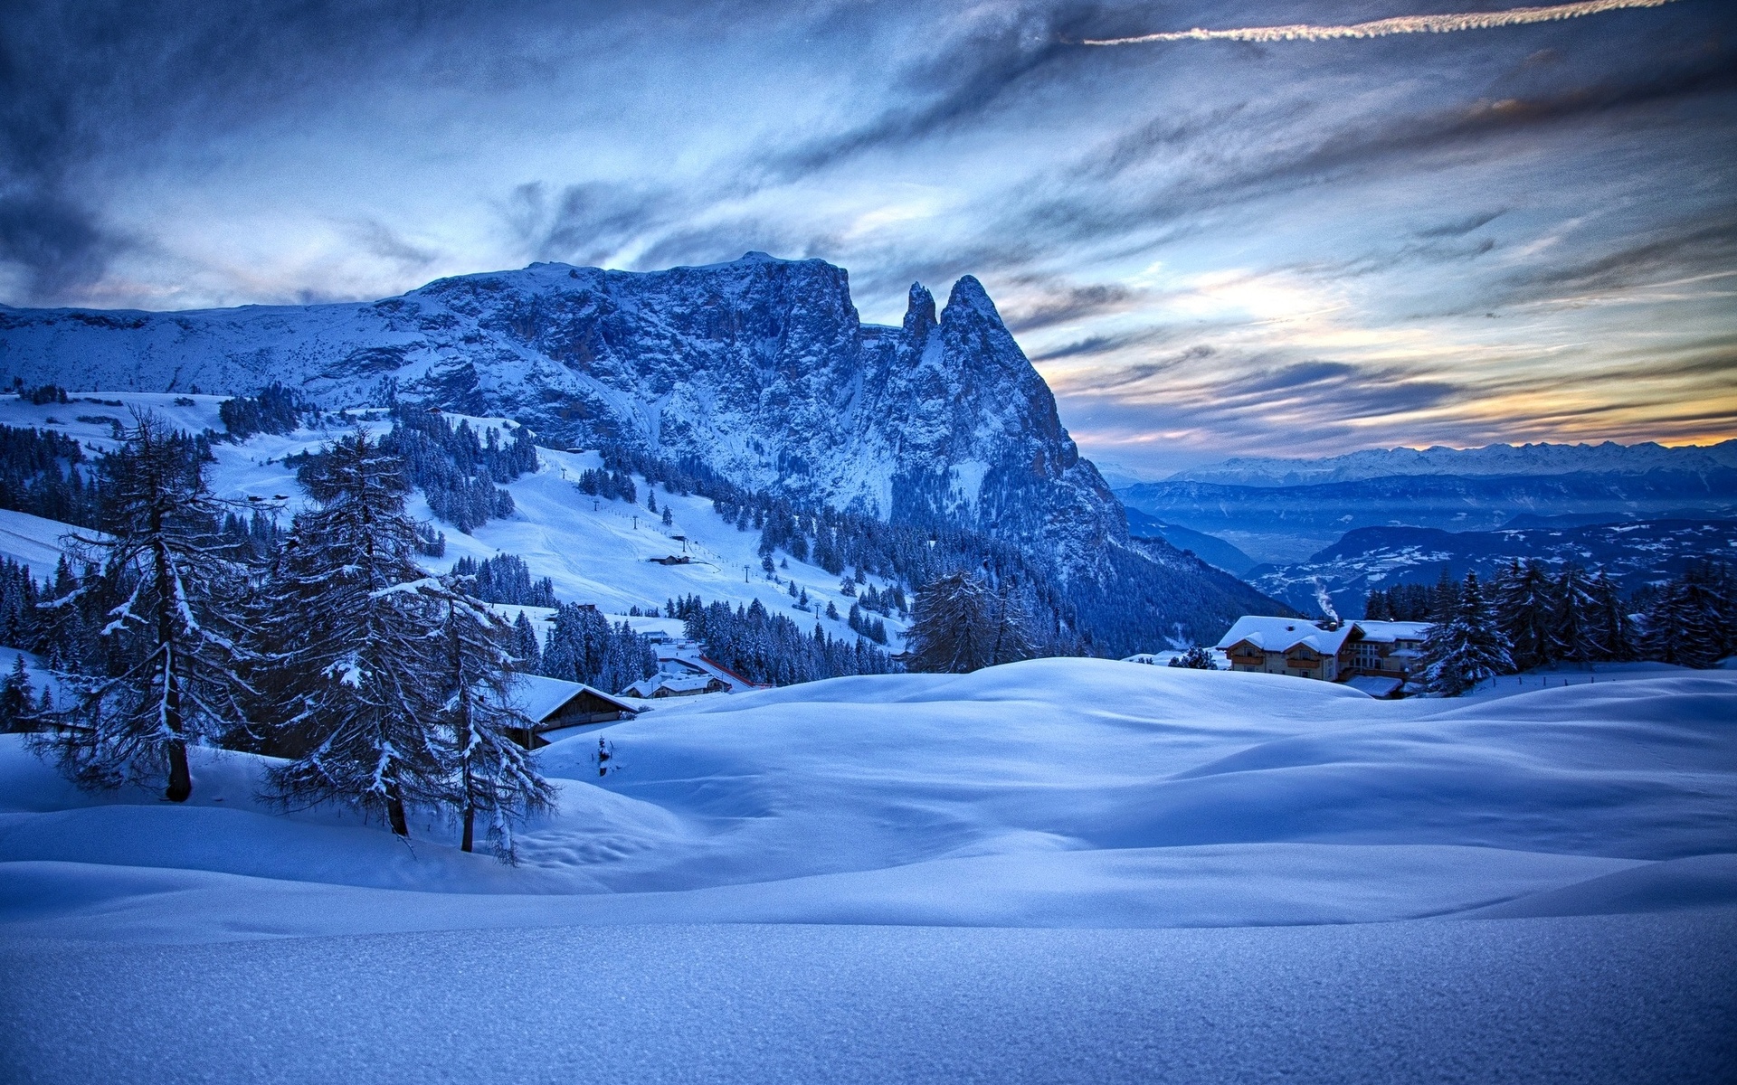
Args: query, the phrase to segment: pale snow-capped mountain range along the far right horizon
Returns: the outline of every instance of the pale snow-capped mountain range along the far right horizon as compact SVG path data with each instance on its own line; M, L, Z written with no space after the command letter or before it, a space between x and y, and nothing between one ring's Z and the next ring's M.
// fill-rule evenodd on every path
M1320 460L1237 457L1223 464L1179 470L1172 483L1225 486L1308 486L1393 476L1537 476L1537 474L1647 474L1673 470L1706 474L1737 469L1737 439L1720 444L1666 448L1641 444L1487 444L1483 448L1372 448Z

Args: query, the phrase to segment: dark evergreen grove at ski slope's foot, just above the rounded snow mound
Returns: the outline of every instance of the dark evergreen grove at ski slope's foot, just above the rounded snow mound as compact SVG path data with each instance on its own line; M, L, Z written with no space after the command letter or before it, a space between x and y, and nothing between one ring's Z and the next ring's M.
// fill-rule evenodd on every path
M862 637L832 637L820 623L804 634L796 621L771 615L756 599L747 606L705 604L698 595L672 601L672 616L705 653L750 682L794 686L853 674L889 674L893 660Z

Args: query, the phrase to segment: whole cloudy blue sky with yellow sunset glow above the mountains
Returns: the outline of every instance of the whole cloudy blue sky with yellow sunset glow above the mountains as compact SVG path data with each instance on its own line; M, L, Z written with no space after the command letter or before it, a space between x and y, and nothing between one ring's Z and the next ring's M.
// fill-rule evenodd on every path
M1122 474L1709 443L1737 5L1641 2L1452 30L1513 5L10 0L0 302L764 250L849 269L877 323L978 276ZM1179 40L1087 43L1150 35Z

